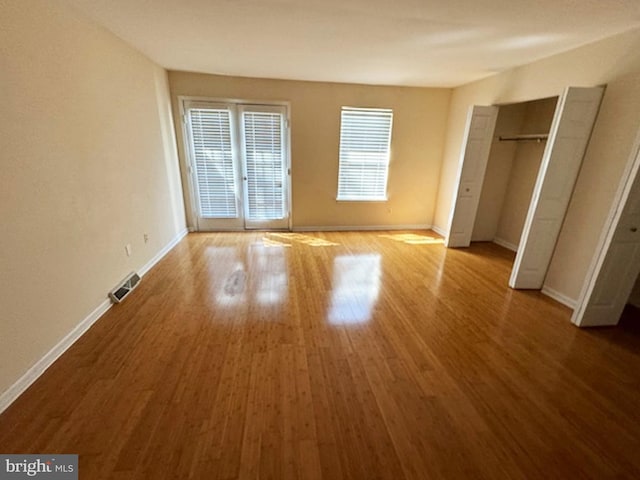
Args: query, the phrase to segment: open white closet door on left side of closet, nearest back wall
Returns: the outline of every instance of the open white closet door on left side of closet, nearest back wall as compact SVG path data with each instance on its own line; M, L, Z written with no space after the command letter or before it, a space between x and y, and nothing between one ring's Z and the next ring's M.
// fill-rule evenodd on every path
M491 150L498 107L474 106L469 109L463 139L457 190L455 193L447 247L468 247L478 211L487 160Z

